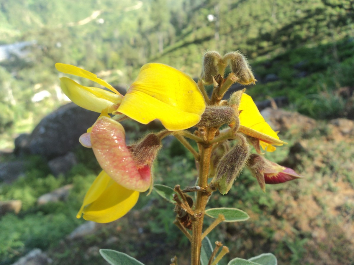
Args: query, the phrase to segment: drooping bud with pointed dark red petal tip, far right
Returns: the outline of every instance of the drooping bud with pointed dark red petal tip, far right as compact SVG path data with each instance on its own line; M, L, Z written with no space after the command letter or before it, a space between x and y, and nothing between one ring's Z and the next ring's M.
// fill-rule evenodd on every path
M278 165L261 155L252 154L249 160L252 175L257 178L259 186L265 191L265 184L278 184L296 178L303 178L289 167Z

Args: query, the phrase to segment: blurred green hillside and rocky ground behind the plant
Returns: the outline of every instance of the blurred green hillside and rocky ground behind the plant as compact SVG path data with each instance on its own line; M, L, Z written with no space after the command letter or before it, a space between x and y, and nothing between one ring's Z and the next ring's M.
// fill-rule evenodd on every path
M38 264L103 264L99 248L188 264L173 205L154 193L111 224L75 218L99 172L77 139L98 115L68 104L54 64L124 93L149 62L198 78L207 50L246 55L258 80L247 93L289 142L267 158L306 177L263 193L245 170L211 204L251 219L220 225L212 242L223 241L229 258L272 252L281 264L354 264L353 20L350 0L0 0L0 264L28 253ZM124 126L128 141L159 129ZM193 157L173 139L165 146L155 182L193 185Z

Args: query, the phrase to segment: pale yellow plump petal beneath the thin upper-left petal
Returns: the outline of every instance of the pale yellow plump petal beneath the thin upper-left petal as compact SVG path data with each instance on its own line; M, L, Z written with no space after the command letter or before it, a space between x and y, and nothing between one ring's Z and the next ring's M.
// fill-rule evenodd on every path
M65 95L76 105L99 113L105 108L108 108L108 113L112 113L118 108L122 100L120 94L101 88L81 86L67 77L60 78L60 86Z

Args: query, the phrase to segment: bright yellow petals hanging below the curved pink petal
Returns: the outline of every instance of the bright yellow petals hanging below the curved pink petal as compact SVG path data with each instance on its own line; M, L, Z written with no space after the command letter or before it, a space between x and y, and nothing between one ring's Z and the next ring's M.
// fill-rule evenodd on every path
M129 212L138 198L139 192L122 187L102 171L86 193L76 217L83 214L85 220L112 222Z

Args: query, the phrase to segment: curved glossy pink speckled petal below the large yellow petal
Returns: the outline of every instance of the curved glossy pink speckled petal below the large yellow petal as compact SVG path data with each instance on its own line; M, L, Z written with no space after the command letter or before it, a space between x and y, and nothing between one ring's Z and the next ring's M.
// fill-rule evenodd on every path
M115 182L138 192L149 188L151 175L138 172L120 123L107 117L98 119L91 131L91 143L99 165Z

